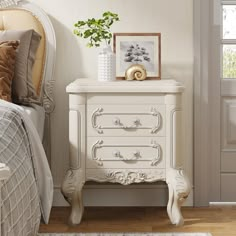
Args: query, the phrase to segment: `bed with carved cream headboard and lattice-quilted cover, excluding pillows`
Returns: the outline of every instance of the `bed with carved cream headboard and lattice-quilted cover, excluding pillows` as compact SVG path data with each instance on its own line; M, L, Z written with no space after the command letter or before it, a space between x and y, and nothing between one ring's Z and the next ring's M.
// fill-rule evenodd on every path
M7 5L3 2L0 1L0 7ZM42 9L27 1L8 2L15 4L0 9L1 41L4 37L8 40L9 32L15 31L32 31L31 35L39 35L40 40L33 63L27 61L27 66L32 64L32 71L30 74L27 69L26 75L32 79L30 86L37 101L31 98L14 100L16 97L5 101L4 96L0 99L0 235L37 235L40 221L49 221L53 198L50 113L54 109L56 40L51 21ZM25 42L23 38L14 42L18 44L15 50L18 55ZM0 55L0 80L1 73ZM14 80L12 84L16 86L19 81ZM11 94L14 94L14 87Z

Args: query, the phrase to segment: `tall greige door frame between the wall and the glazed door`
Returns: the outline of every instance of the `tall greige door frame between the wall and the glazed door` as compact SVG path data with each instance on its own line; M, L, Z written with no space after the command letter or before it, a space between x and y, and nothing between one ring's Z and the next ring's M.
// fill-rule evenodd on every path
M195 206L220 201L220 25L214 16L218 2L193 1Z

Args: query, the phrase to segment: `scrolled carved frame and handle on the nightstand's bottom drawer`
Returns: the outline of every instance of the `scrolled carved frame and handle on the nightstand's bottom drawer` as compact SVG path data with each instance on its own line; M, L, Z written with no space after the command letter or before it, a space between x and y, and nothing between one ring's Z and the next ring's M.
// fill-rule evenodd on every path
M104 156L98 154L98 149L108 149ZM155 150L154 155L147 155L148 149ZM152 151L150 150L150 151ZM151 157L150 157L151 156ZM103 140L98 140L93 144L91 150L92 160L98 166L103 166L104 161L137 162L148 161L150 166L157 166L162 160L161 146L154 140L150 144L105 144Z

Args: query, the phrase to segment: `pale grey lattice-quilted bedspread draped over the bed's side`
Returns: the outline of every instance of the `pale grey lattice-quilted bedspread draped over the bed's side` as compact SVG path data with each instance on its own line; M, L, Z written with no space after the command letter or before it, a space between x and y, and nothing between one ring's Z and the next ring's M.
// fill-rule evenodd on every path
M24 109L0 100L0 163L11 170L1 187L1 236L36 235L48 223L53 182L39 135ZM40 213L41 211L41 213Z

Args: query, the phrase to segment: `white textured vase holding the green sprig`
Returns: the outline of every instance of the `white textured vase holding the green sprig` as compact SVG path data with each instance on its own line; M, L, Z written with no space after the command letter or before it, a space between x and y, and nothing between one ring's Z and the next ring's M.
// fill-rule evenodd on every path
M113 81L115 75L115 55L111 50L111 46L104 47L98 54L98 80Z

